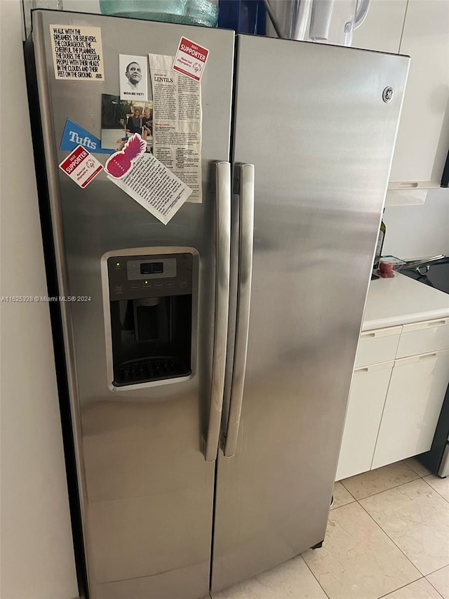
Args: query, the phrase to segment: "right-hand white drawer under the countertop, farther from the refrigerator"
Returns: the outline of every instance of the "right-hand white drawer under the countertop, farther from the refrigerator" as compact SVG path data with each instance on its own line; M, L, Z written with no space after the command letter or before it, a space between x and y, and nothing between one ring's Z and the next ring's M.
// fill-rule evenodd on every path
M449 348L449 318L404 324L396 357Z

